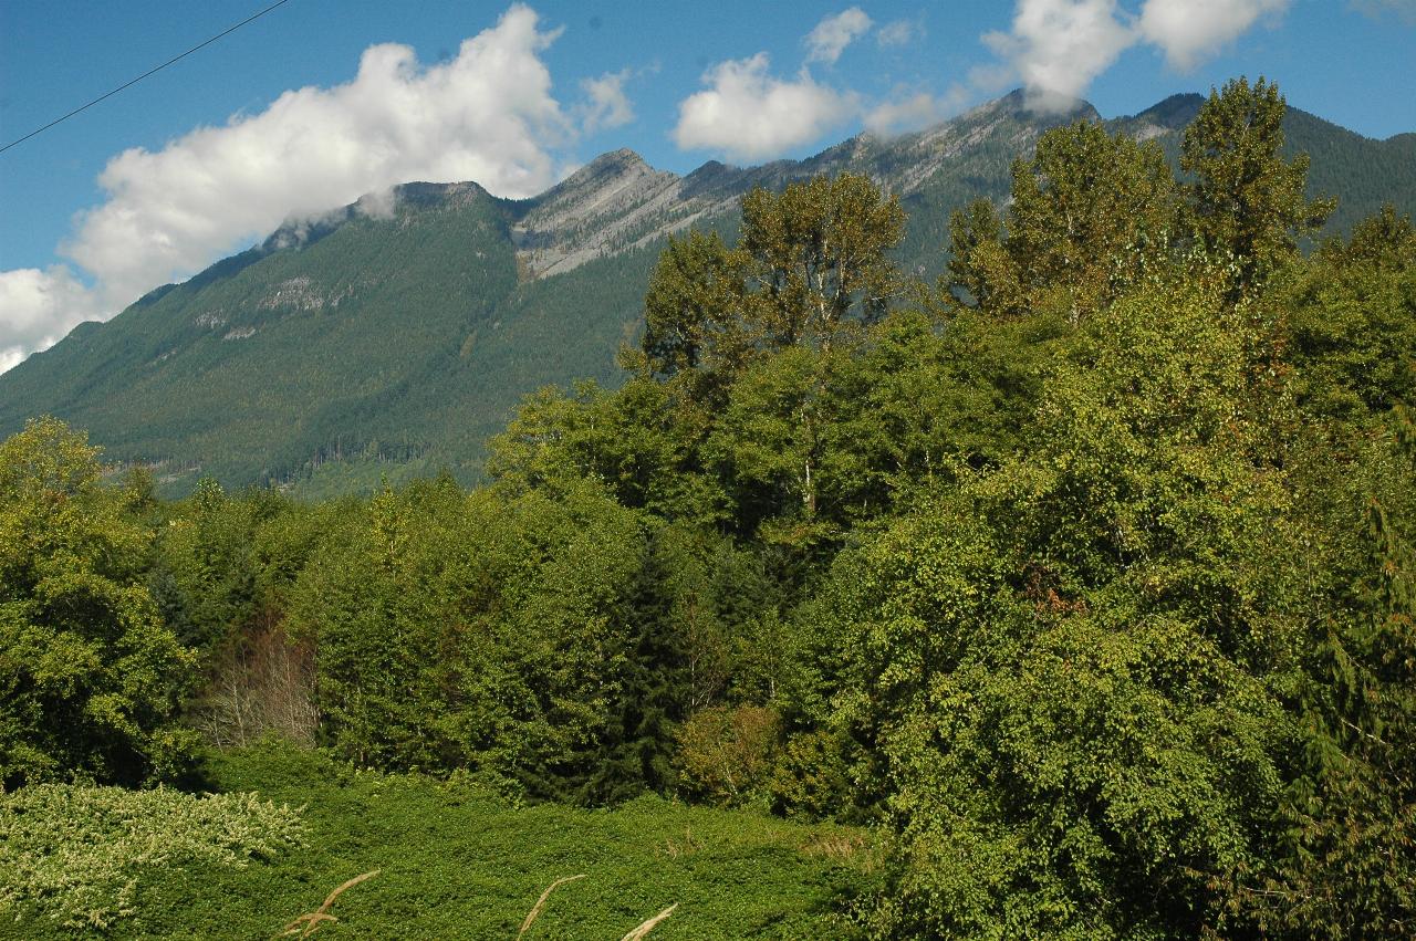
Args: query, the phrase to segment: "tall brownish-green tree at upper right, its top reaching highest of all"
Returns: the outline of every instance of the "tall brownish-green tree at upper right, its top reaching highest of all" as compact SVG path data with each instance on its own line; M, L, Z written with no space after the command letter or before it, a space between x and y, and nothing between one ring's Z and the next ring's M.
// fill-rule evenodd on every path
M1205 245L1233 255L1235 296L1293 260L1298 239L1337 207L1308 201L1307 154L1283 158L1284 110L1272 82L1231 79L1211 89L1181 140L1180 166L1195 175L1187 185L1189 225Z

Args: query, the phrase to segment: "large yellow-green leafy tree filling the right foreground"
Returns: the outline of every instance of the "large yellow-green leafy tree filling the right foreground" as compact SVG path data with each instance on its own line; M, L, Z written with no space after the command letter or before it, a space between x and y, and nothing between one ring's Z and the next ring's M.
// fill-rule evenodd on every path
M1195 935L1262 884L1301 624L1263 344L1180 284L1087 340L1027 456L845 553L809 616L899 839L882 937Z

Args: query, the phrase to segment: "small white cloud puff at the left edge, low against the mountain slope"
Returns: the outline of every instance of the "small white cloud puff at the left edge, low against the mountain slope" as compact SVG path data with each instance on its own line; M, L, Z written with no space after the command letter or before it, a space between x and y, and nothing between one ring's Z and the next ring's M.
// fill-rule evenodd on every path
M98 297L64 265L0 272L0 372L98 316Z

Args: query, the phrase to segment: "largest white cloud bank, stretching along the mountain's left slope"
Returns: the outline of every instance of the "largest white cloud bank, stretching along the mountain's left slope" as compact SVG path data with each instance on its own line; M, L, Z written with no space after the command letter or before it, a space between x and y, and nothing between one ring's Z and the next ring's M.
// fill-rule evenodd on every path
M425 67L406 45L372 45L347 83L290 91L160 150L118 154L99 177L106 201L78 217L62 246L93 276L93 293L75 293L65 269L0 273L0 357L42 348L287 218L398 183L474 180L507 197L545 190L575 136L541 58L556 35L517 3L450 61ZM629 102L613 76L598 81L592 116L612 126Z

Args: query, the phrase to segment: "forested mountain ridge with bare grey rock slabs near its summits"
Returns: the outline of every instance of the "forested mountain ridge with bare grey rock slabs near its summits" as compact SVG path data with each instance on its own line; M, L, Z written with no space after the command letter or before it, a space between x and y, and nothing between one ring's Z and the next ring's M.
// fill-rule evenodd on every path
M1178 95L1107 122L1172 157L1202 99ZM105 324L82 324L0 375L0 436L51 413L110 460L154 466L167 492L227 485L360 490L447 467L480 474L486 439L534 389L615 383L649 275L673 232L731 235L738 198L820 173L867 173L909 212L906 270L944 265L949 212L1004 198L1014 157L1048 127L1100 120L1086 102L1035 115L1020 92L893 139L852 137L801 161L688 175L603 154L531 200L474 183L411 183L290 222ZM1416 134L1374 142L1290 109L1290 149L1345 228L1383 200L1416 209Z

